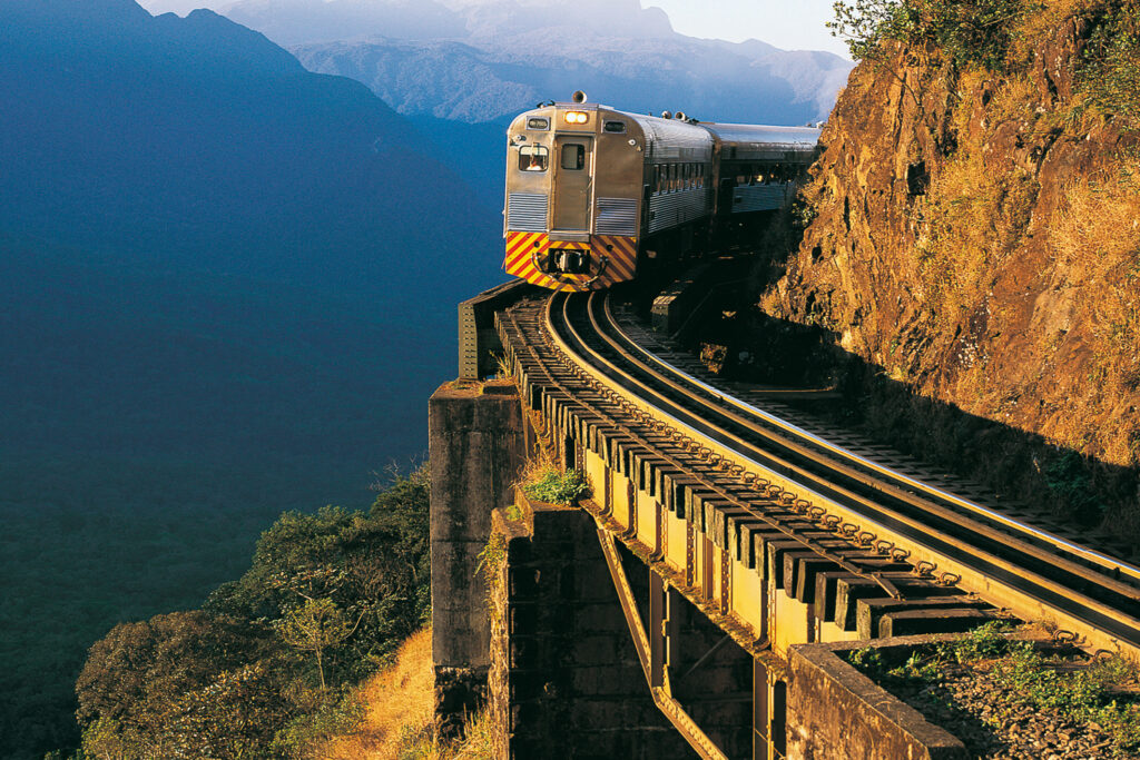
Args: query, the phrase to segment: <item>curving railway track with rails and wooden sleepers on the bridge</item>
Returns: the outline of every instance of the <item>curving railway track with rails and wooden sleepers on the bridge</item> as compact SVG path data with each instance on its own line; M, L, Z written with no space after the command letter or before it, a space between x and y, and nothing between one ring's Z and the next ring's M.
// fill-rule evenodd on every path
M1002 610L1089 648L1140 654L1140 569L733 395L617 299L555 294L507 312L499 329L520 377L556 414L693 473L691 490L712 495L701 524L714 540L739 555L750 536L766 537L767 559L784 558L773 563L777 586L821 603L823 620L877 636ZM858 599L870 597L887 603L868 612Z

